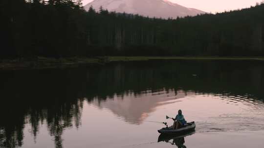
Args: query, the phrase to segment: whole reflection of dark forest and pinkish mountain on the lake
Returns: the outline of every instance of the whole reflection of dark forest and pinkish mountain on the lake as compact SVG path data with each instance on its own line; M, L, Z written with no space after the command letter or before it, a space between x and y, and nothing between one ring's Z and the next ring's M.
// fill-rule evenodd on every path
M56 148L81 126L84 101L140 125L157 107L212 95L263 108L263 62L145 61L76 69L0 72L0 148L23 146L24 128L46 125ZM164 113L165 115L165 113Z

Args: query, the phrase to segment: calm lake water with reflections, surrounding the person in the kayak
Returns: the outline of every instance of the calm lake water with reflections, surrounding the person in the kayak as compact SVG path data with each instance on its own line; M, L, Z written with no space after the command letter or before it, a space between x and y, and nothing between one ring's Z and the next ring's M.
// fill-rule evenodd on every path
M0 148L261 148L264 62L138 61L0 72ZM157 142L182 109L195 133Z

